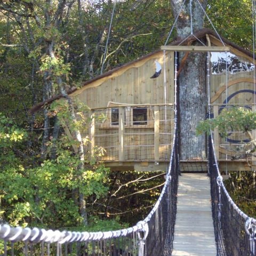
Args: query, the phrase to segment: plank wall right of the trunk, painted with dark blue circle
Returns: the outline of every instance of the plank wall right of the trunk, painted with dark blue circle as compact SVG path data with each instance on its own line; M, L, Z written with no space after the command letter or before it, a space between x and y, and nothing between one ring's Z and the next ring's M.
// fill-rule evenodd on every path
M227 81L227 82L226 82ZM226 85L227 84L227 85ZM226 90L227 89L227 90ZM251 108L254 102L253 71L240 71L235 74L226 72L211 76L211 104L214 109L214 117L220 114L222 109L232 106ZM243 141L249 139L243 132L232 132L228 139L219 137L218 130L214 131L215 147L218 147L217 158L231 159L231 157L245 153ZM231 141L233 140L233 141Z

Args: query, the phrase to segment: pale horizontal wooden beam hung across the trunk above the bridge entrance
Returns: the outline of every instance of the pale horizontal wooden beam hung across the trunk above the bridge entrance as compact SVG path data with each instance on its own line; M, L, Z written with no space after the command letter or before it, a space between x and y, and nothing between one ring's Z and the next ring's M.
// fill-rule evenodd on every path
M177 52L229 52L229 46L183 46L183 45L164 45L161 46L164 51Z

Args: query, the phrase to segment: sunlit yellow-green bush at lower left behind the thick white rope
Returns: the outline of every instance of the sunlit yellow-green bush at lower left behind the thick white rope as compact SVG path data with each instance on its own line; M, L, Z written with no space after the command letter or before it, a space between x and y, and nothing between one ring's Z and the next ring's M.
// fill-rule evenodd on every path
M5 166L0 174L2 218L13 226L81 226L74 191L85 199L106 195L108 169L99 165L79 170L80 159L62 149L56 159L47 159L33 169Z

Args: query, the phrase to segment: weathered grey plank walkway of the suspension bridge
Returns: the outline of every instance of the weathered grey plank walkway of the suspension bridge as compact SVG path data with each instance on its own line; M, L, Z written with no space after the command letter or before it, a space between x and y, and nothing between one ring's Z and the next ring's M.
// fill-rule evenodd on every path
M210 180L202 173L179 177L172 256L216 256Z

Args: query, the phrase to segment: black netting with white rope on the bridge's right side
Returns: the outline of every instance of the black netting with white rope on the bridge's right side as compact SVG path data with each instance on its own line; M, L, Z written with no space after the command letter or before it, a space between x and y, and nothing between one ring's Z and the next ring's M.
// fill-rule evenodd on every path
M209 139L209 173L217 255L256 255L256 220L242 212L229 196L220 175L212 136Z

